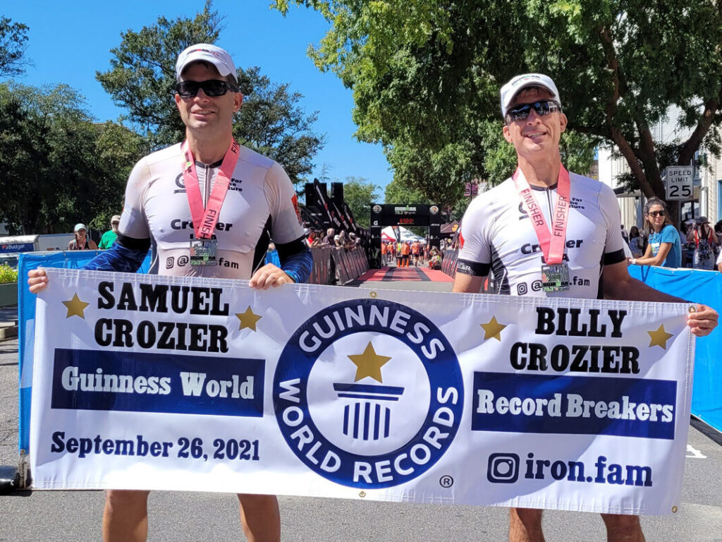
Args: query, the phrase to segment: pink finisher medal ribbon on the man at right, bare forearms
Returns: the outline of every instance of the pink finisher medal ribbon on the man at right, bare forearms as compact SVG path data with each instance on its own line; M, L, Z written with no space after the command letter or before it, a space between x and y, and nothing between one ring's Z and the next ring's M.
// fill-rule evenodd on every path
M562 263L564 245L567 240L567 221L569 219L569 172L561 166L557 179L557 205L552 210L552 228L549 230L544 213L534 199L534 194L526 181L520 168L516 168L512 176L516 191L521 196L521 204L529 215L531 225L534 226L536 238L539 239L539 248L544 254L547 265Z

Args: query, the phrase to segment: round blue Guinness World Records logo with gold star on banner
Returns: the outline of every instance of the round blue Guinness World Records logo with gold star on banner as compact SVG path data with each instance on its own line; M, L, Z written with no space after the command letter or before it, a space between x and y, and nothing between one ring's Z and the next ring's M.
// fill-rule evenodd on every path
M456 353L423 314L343 301L304 322L281 353L274 410L290 449L344 486L397 486L443 457L464 384Z

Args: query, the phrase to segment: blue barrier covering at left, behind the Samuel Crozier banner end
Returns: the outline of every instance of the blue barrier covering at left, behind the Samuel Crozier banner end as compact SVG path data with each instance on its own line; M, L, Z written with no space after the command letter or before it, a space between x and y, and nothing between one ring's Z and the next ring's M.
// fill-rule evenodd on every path
M100 251L27 252L20 254L17 264L17 310L19 336L19 419L18 451L27 452L30 446L30 390L32 386L32 348L35 343L35 295L27 289L27 272L36 267L64 267L79 269ZM150 268L150 254L146 257L139 273Z

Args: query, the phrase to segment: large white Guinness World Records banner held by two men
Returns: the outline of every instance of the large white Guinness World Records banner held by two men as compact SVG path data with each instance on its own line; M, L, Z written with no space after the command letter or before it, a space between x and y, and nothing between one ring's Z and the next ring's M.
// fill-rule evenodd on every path
M679 504L686 305L48 275L35 489Z

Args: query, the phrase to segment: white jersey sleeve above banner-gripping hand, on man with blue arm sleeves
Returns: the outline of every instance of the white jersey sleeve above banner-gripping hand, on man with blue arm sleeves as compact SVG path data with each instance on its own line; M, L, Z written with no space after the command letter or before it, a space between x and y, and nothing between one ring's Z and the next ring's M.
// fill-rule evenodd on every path
M274 243L290 243L303 237L296 191L278 163L274 163L266 173L264 190L271 210L271 238Z

